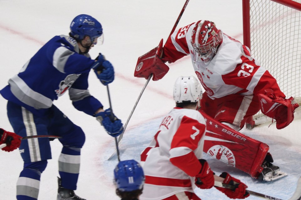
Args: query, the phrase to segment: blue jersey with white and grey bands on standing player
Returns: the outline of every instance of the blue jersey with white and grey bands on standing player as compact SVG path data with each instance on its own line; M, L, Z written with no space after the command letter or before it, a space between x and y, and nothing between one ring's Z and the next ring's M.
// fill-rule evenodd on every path
M43 116L53 101L69 90L74 107L93 115L103 107L88 91L88 75L93 63L89 54L79 54L75 39L55 36L9 79L0 93L8 101Z

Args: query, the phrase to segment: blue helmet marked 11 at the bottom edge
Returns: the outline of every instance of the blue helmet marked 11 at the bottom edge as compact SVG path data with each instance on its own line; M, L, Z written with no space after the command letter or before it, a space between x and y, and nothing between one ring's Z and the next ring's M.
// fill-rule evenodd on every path
M120 161L114 169L114 183L122 192L142 189L144 181L143 169L135 160Z

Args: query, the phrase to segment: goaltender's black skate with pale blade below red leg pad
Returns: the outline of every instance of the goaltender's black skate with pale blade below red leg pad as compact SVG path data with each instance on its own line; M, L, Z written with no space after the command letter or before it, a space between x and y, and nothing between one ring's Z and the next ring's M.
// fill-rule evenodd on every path
M274 181L288 175L287 173L281 172L278 166L273 165L268 161L264 161L261 167L263 170L258 176L258 180L261 181Z

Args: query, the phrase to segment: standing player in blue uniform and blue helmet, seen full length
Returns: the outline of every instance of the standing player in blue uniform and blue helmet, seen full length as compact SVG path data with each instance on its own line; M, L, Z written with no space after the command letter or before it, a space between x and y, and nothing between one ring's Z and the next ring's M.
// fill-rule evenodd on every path
M108 134L122 133L122 123L110 109L88 91L88 75L93 69L103 85L114 81L114 68L100 54L90 58L88 52L103 35L101 24L89 15L78 15L70 25L69 36L55 36L10 78L0 93L8 100L7 113L14 132L21 137L30 135L57 135L63 145L59 157L59 188L57 200L84 200L78 197L77 179L81 148L85 142L82 129L72 123L53 101L69 90L73 106L97 117ZM49 138L22 141L21 156L24 169L17 182L18 200L37 200L40 176L47 160L51 159Z

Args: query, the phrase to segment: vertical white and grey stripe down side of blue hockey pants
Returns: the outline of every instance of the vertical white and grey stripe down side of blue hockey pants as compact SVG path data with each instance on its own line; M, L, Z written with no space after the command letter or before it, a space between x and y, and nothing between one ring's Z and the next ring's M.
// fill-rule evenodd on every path
M26 136L37 135L33 114L22 107L23 123L26 129ZM28 139L29 156L31 162L41 161L40 147L38 138Z

